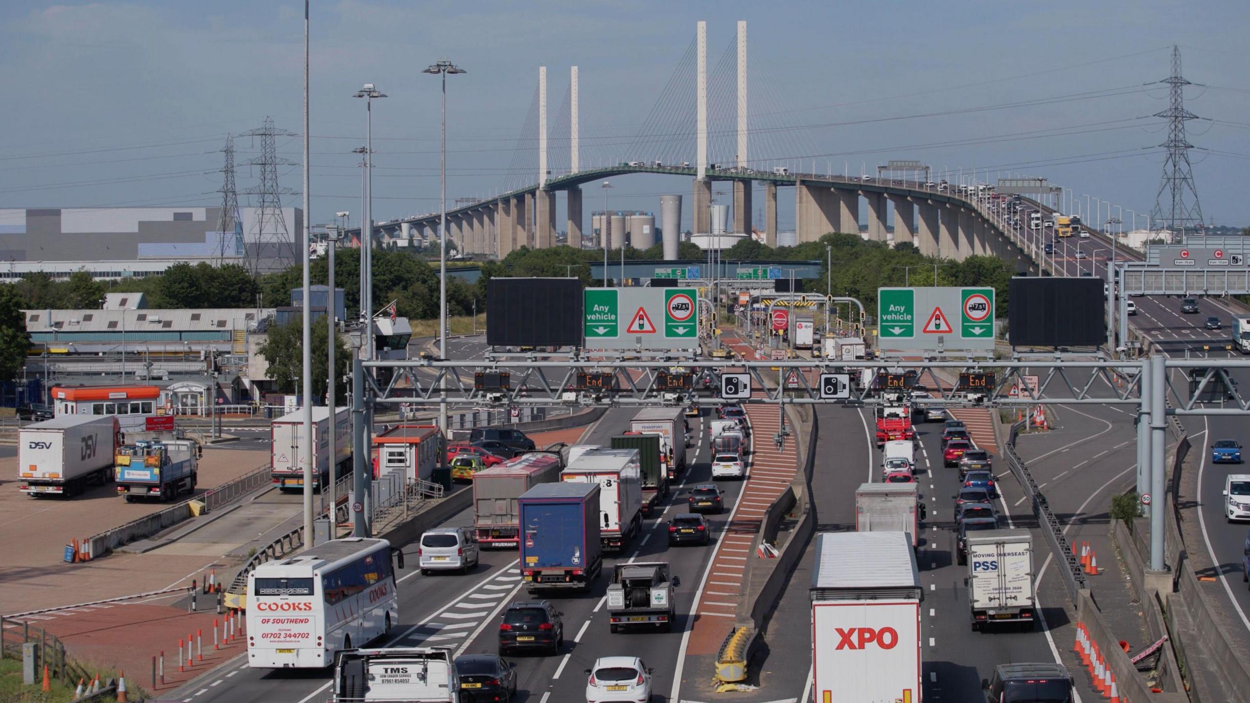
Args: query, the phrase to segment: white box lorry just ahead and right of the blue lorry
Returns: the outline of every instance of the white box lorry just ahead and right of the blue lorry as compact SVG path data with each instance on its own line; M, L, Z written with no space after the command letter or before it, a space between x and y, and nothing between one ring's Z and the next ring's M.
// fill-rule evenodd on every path
M642 470L638 449L591 449L560 472L564 483L598 483L599 540L621 552L642 530Z

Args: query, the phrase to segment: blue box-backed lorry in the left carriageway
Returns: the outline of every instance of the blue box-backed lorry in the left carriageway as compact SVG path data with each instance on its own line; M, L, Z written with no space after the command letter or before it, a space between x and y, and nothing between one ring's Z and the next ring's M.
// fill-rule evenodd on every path
M604 568L598 483L544 483L521 495L521 578L530 594L590 590Z

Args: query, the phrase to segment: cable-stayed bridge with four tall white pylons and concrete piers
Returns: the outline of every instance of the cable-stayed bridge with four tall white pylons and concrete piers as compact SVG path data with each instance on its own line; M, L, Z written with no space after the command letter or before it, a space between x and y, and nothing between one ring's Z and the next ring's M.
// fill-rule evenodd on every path
M792 188L800 243L830 231L858 233L862 203L872 240L886 240L892 210L892 240L914 243L924 254L951 259L989 254L1019 259L1025 266L1035 259L1026 254L1029 246L1020 231L990 213L975 189L964 191L945 183L934 184L928 176L920 178L924 166L905 170L901 178L882 178L880 173L876 178L818 174L812 173L811 161L808 161L810 169L804 170L801 155L815 153L814 146L802 143L804 130L785 124L784 110L751 110L758 103L779 105L780 101L769 93L769 81L748 80L746 48L746 23L740 21L734 41L709 71L706 23L700 21L695 39L636 135L628 143L604 140L609 143L591 148L600 153L622 149L622 155L594 159L601 165L589 168L582 166L578 68L570 70L568 90L551 125L548 73L540 66L539 85L505 171L512 183L489 198L456 200L458 205L448 210L449 241L462 254L500 259L521 246L554 246L556 198L564 193L568 243L579 246L582 185L625 174L664 174L691 176L695 233L711 231L712 183L730 181L734 191L730 231L752 234L751 186L752 181L761 181L765 208L764 230L759 234L770 246L776 245L778 189ZM759 85L756 100L751 99L749 85ZM550 126L555 126L559 138L551 139ZM1014 191L1048 196L1055 190L1039 180L1021 184ZM438 236L438 228L439 213L432 211L375 223L372 234L391 239L416 234L429 239ZM349 234L359 238L360 230ZM625 244L624 233L608 236L609 248ZM598 248L604 243L595 244Z

